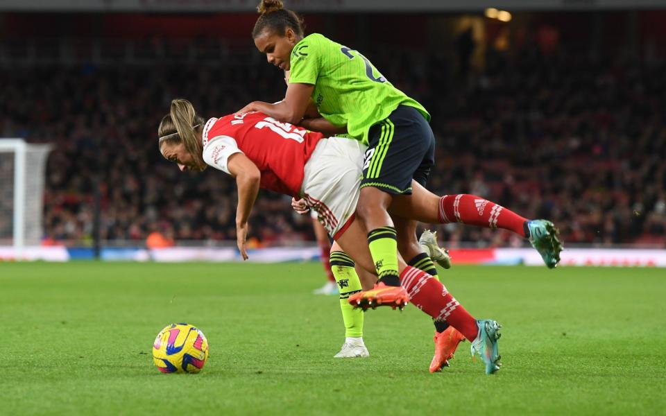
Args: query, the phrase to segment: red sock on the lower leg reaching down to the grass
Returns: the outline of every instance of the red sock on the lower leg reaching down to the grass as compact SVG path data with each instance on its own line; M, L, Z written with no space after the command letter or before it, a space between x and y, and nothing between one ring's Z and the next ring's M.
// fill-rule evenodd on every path
M437 279L418 268L407 266L400 273L400 285L407 289L410 302L418 309L435 320L446 320L470 341L477 338L477 320Z

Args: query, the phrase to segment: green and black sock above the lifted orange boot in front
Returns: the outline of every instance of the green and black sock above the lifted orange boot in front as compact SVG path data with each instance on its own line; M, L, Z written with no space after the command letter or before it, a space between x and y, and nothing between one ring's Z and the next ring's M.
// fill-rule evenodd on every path
M375 261L379 281L388 286L400 286L398 273L398 234L393 227L379 227L368 233L370 254Z

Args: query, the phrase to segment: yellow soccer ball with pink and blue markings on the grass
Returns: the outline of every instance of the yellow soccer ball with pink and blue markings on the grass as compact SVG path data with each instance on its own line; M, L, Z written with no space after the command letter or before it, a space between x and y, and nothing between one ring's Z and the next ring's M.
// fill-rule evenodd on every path
M153 361L157 370L200 372L208 359L208 340L196 327L171 324L162 329L153 343Z

